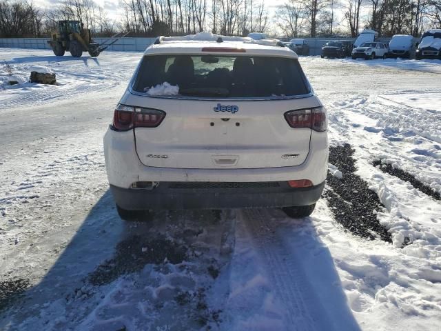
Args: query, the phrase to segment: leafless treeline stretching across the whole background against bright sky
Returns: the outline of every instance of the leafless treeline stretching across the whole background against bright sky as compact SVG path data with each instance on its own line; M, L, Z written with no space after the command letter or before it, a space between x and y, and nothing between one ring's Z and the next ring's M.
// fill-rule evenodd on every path
M43 9L32 0L0 0L0 37L46 37L59 20L79 20L96 37L132 37L200 31L271 37L350 35L371 28L380 36L420 35L441 28L441 0L121 0L112 20L94 0L64 0Z

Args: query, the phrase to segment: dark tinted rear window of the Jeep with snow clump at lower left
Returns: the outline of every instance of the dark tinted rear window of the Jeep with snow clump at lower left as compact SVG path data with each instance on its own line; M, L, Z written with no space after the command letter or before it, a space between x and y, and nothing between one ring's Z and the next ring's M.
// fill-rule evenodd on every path
M147 92L165 83L178 86L178 93L172 97L271 98L310 92L297 59L243 55L145 56L132 89Z

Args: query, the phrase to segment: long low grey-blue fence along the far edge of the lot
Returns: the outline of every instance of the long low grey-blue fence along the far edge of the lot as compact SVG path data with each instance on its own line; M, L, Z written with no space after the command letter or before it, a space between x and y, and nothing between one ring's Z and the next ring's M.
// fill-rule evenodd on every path
M37 48L37 49L48 49L50 46L46 42L48 38L3 38L0 39L0 48ZM107 40L107 38L94 38L97 43L102 43ZM154 43L155 38L122 38L116 41L112 46L107 48L108 50L119 50L119 51L132 51L132 52L142 52L147 48L147 46ZM323 45L330 40L351 40L355 41L355 38L306 38L305 39L309 45L310 55L320 55ZM378 41L389 43L391 38L380 38ZM414 41L418 41L415 39Z

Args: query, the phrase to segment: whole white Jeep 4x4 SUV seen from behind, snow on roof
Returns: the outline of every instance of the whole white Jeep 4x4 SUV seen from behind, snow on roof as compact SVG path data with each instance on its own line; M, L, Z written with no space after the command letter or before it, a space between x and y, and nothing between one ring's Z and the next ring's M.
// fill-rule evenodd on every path
M105 165L123 219L145 210L314 210L327 174L325 108L280 41L159 37L114 111Z

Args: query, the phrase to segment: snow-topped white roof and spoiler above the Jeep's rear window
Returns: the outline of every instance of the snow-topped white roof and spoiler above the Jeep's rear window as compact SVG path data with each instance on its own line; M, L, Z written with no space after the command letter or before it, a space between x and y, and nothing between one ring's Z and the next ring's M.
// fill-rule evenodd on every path
M276 57L298 56L278 39L254 40L249 37L220 36L199 32L183 37L158 37L144 54L236 54L271 55Z

